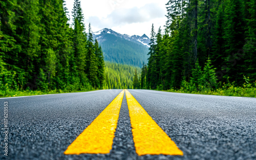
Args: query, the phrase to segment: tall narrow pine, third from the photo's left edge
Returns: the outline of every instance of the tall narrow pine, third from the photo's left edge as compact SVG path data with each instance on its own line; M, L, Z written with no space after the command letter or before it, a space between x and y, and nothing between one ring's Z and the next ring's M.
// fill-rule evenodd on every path
M58 22L53 2L41 0L39 1L39 5L38 15L44 18L40 19L40 39L38 42L40 50L38 52L37 62L34 63L36 64L38 77L36 84L38 84L37 87L42 90L51 90L55 88L53 77L56 73L56 47L58 46L58 41L54 35L57 35ZM50 57L54 57L55 59L51 62L51 60L48 59Z

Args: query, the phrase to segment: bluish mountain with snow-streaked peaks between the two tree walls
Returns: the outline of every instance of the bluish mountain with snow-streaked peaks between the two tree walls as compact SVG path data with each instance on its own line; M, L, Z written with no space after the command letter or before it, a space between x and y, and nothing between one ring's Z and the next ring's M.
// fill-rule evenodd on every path
M105 61L142 67L147 63L150 39L142 36L122 35L111 29L103 29L93 33L102 47Z

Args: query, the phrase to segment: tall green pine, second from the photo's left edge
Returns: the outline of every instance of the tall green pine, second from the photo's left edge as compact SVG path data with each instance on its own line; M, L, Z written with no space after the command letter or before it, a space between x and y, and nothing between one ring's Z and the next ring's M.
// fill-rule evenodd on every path
M16 53L16 67L22 69L19 73L25 73L26 84L24 88L36 89L35 77L38 74L38 58L40 56L40 33L39 1L18 1L15 25L15 40L21 49ZM21 74L20 74L21 75ZM32 84L32 85L31 85Z

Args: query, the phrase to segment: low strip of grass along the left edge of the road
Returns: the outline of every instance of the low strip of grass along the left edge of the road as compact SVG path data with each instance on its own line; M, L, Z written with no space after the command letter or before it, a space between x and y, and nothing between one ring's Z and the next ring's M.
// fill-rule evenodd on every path
M58 94L58 93L74 93L74 92L88 92L95 91L97 89L88 89L88 90L79 90L79 91L63 91L63 90L50 90L50 91L32 91L32 90L23 90L23 91L1 91L0 98L4 97L19 97L19 96L32 96L32 95L42 95L42 94Z

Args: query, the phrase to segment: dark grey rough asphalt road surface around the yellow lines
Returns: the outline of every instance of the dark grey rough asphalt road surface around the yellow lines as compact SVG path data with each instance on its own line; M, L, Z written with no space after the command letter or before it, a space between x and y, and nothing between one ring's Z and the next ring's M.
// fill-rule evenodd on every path
M125 94L108 154L63 152L122 90L0 98L8 101L8 157L0 159L256 159L256 98L129 90L183 151L183 156L135 152Z

